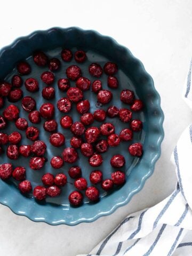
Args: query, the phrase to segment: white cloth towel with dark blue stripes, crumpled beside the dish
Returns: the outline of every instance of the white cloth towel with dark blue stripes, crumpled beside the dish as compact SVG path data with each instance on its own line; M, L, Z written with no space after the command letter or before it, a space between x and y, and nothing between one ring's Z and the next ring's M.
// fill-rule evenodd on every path
M183 98L192 110L191 68ZM181 134L172 155L178 183L157 205L127 216L89 254L78 256L192 255L192 125Z

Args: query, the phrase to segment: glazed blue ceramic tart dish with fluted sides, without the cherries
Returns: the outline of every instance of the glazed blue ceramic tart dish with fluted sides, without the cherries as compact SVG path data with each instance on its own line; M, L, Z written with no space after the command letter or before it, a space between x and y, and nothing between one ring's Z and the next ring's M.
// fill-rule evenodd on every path
M8 182L0 180L0 202L10 207L10 209L20 215L25 215L33 221L44 221L50 225L59 225L65 223L67 225L76 225L80 222L91 222L95 219L108 215L115 211L117 207L128 203L131 197L138 193L143 187L146 179L153 173L155 162L160 155L160 146L163 140L163 112L160 107L160 97L154 88L153 79L146 73L142 63L135 59L131 52L125 47L118 45L114 39L106 36L102 36L92 30L82 30L79 28L52 28L46 31L35 31L33 34L27 37L18 38L12 45L5 47L0 52L0 79L10 81L11 77L17 73L15 70L15 64L20 60L25 60L30 63L32 72L28 76L23 76L23 80L28 77L37 78L39 81L39 91L36 93L29 93L26 91L25 86L22 86L24 95L31 95L36 99L37 109L46 102L41 94L42 88L45 86L39 77L43 71L48 70L47 68L39 68L34 65L31 54L36 50L43 50L50 58L60 58L60 52L62 47L69 48L73 52L76 50L84 50L87 54L87 60L85 63L78 64L82 69L83 76L88 77L91 81L95 78L89 75L87 67L92 62L99 62L103 66L108 60L114 61L118 65L117 78L119 80L119 89L111 90L114 98L108 105L102 108L107 109L110 105L115 105L119 108L127 107L121 101L119 101L119 94L122 89L133 90L136 97L141 99L145 103L145 109L141 113L134 113L133 118L139 118L143 122L143 131L134 133L133 142L141 142L143 144L143 156L141 158L131 157L127 151L130 143L122 142L118 148L110 148L107 153L102 154L103 161L102 166L93 168L87 162L87 158L79 153L78 162L74 165L82 167L83 177L89 180L90 172L93 170L102 170L103 179L110 178L111 172L114 169L110 166L111 156L119 153L124 155L126 159L126 165L123 167L123 171L126 172L126 183L124 186L115 188L109 194L100 188L100 201L98 203L90 203L84 198L84 203L80 207L70 206L68 203L68 195L74 190L73 179L68 176L67 185L62 188L62 194L58 198L47 198L46 202L37 202L32 195L23 196L20 194L17 188L17 182L11 179ZM55 88L55 99L51 102L55 103L61 97L65 97L66 93L60 92L57 87L57 80L61 77L66 77L65 70L68 66L76 64L73 60L71 62L62 62L61 69L56 71L55 82L53 87ZM101 81L103 88L107 89L107 76L102 75ZM71 82L71 86L75 86L75 82ZM89 99L91 103L91 113L95 109L100 108L97 105L97 98L94 93L90 91L84 92L84 98ZM20 117L27 118L28 113L24 111L20 105L21 102L14 103L21 109ZM9 105L9 102L6 102ZM129 108L129 106L128 106ZM2 114L2 111L0 111ZM80 115L76 112L75 106L69 113L73 116L74 121L79 121ZM59 121L60 117L63 116L59 111L55 111L55 119ZM43 120L42 120L43 122ZM116 133L118 134L127 124L119 122L118 118L107 118L106 122L112 122L115 125ZM59 122L58 122L59 124ZM32 126L29 122L29 126ZM94 125L99 126L99 122L95 122ZM49 135L42 128L42 123L34 125L40 130L40 139L44 140L47 144L46 157L50 160L54 155L61 155L63 148L70 146L71 133L68 130L62 129L58 125L58 131L65 134L66 143L65 147L55 148L49 143ZM129 127L129 126L128 126ZM6 127L7 133L16 131L14 123L9 123ZM19 131L21 132L21 131ZM25 132L22 133L22 144L27 145L31 142L25 138ZM133 143L132 142L132 143ZM10 161L9 158L4 154L1 156L0 163L12 162L13 166L25 166L27 169L27 179L29 179L35 187L41 185L41 177L46 172L51 172L54 175L59 172L67 171L71 165L65 164L62 169L55 170L51 167L50 163L47 162L44 168L40 171L33 171L29 168L28 158L19 157L15 161ZM17 164L17 165L15 165ZM91 185L89 183L89 185Z

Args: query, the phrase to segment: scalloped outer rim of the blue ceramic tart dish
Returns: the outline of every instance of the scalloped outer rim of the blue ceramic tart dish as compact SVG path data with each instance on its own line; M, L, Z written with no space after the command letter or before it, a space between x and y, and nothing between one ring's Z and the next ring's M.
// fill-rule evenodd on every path
M45 222L45 223L47 223L49 225L52 225L52 226L58 226L58 225L61 225L61 224L65 224L65 225L68 225L68 226L75 226L75 225L77 225L79 223L82 223L82 222L93 222L93 221L97 220L100 217L104 217L106 215L109 215L109 214L115 212L118 209L119 206L123 206L123 205L129 203L131 198L133 197L133 195L137 194L143 188L143 186L145 185L146 180L153 174L155 163L157 162L158 158L161 155L161 143L162 143L163 138L164 138L164 130L163 130L164 114L163 114L163 111L162 111L162 108L161 108L161 98L160 98L158 92L155 89L153 78L147 73L147 71L145 70L145 68L143 66L143 63L139 59L135 58L133 56L133 54L130 52L130 50L127 49L127 47L118 44L115 39L113 39L109 36L101 35L100 33L98 33L95 30L84 30L84 29L81 29L81 28L78 28L78 27L69 27L69 28L53 27L53 28L50 28L50 29L47 29L47 30L36 30L33 33L29 34L28 36L19 37L19 38L15 39L15 41L13 41L12 44L3 47L0 50L0 58L2 57L2 55L6 51L9 51L10 49L13 49L19 42L25 41L26 39L30 39L31 37L33 37L37 34L51 33L51 31L53 31L53 30L61 30L62 32L65 31L65 33L67 33L70 30L74 30L74 31L76 30L76 31L79 31L79 32L84 33L84 34L95 34L96 36L98 36L102 39L106 39L106 40L110 41L111 43L113 43L119 49L125 50L129 54L130 58L132 60L134 60L135 62L137 62L138 66L141 68L141 72L143 73L143 75L146 75L148 78L151 79L151 90L153 90L153 93L154 93L154 95L157 99L157 103L156 103L155 107L158 107L158 110L159 110L159 120L158 120L158 125L159 125L158 126L158 135L159 135L159 137L158 137L157 147L156 147L157 152L156 152L156 156L153 159L151 159L151 166L149 168L149 172L145 176L142 177L141 183L137 187L137 189L131 191L131 193L129 195L127 195L127 197L124 199L124 201L115 204L113 207L111 207L111 209L109 211L105 211L105 212L102 211L102 212L99 212L99 213L95 213L92 218L88 218L88 219L79 218L78 220L73 221L73 222L67 222L66 220L63 220L63 219L58 220L58 221L53 221L53 220L45 219L43 217L39 218L39 219L36 219L36 217L35 217L36 211L34 211L34 212L33 211L21 212L19 210L19 207L18 207L20 204L11 203L9 200L4 201L4 199L2 198L4 193L0 194L0 203L9 207L9 209L17 215L25 216L25 217L27 217L28 219L30 219L34 222ZM31 215L32 212L33 212L33 214Z

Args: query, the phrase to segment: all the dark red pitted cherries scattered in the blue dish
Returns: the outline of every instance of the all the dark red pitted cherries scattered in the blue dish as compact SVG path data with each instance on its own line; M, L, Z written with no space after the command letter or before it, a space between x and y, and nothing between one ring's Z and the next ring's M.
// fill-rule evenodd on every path
M45 71L41 75L45 87L42 90L42 97L46 100L51 100L55 97L55 89L50 86L55 80L54 73L60 69L61 61L57 58L49 59L45 53L36 52L33 56L34 62L37 66L48 66L50 71ZM61 58L65 62L70 62L73 58L73 53L70 50L64 49L61 52ZM74 54L76 62L86 61L86 53L84 51L76 51ZM103 71L107 78L107 85L111 89L118 88L118 79L114 76L117 73L118 67L116 63L107 62L102 68L99 63L92 63L89 66L89 73L96 77L92 83L82 76L82 70L72 65L66 69L66 78L58 80L58 87L61 92L66 92L67 97L63 97L57 101L57 109L65 113L60 119L60 125L63 129L70 129L73 137L70 139L71 147L62 150L61 156L54 156L50 159L50 164L54 169L60 169L64 162L73 164L78 159L77 148L80 148L83 156L88 157L89 164L93 167L98 167L102 164L102 153L108 150L108 147L117 147L122 141L131 141L133 132L139 132L142 129L142 122L138 119L132 119L132 111L140 111L143 108L143 103L139 99L135 99L134 93L131 90L124 89L120 94L120 100L130 105L130 109L116 106L108 107L107 111L103 109L95 110L94 113L89 113L90 102L84 99L83 92L91 90L97 94L97 100L100 106L105 105L113 98L113 93L110 90L102 89L102 83L98 79L101 77ZM44 157L46 152L46 144L39 138L39 130L35 126L28 126L28 121L19 116L20 110L14 105L14 102L21 100L21 107L27 111L28 119L31 123L38 124L41 119L46 119L43 123L44 130L51 133L50 143L54 147L62 147L65 144L65 135L57 132L58 122L53 119L55 106L50 103L43 103L39 110L36 110L36 101L33 97L23 97L23 91L20 89L23 80L22 75L28 75L31 72L31 67L26 61L19 62L17 65L18 75L12 77L11 83L0 83L0 108L4 106L4 100L10 103L8 107L3 110L0 115L0 130L6 129L7 122L14 122L18 130L25 131L26 137L33 141L32 145L19 145L22 141L22 136L18 131L13 131L11 134L6 134L0 131L0 155L4 153L3 145L9 146L6 148L7 157L16 160L21 155L23 157L30 157L29 166L33 170L40 170L47 162ZM70 81L75 81L76 87L70 86ZM29 92L39 91L37 79L30 77L25 80L26 90ZM81 114L79 122L73 122L70 115L66 115L71 110L73 104L76 104L76 110ZM57 111L58 111L57 110ZM105 123L106 117L117 117L123 123L130 123L130 128L123 129L119 134L115 133L115 126L112 123ZM94 120L101 122L100 127L92 126ZM86 127L88 126L89 127ZM106 139L100 139L100 135ZM141 143L133 143L128 148L132 156L140 157L142 155ZM116 169L120 169L125 165L125 158L122 155L116 154L111 157L110 164ZM77 190L69 195L69 202L73 205L79 205L83 201L83 195L80 192L85 190L85 195L91 201L99 199L99 190L90 186L87 187L87 181L82 178L82 170L79 166L70 167L68 174L75 179L74 186ZM31 183L26 180L25 167L18 166L13 169L11 163L0 164L0 178L2 180L13 177L20 181L19 189L22 193L29 193L32 190ZM90 174L90 181L93 185L101 183L102 189L108 191L114 185L123 185L125 182L125 173L122 171L115 171L111 173L110 179L102 180L102 172L99 170L92 171ZM64 173L57 175L45 173L42 177L44 186L36 186L33 190L33 195L38 200L43 200L46 196L55 197L61 193L62 186L67 183L67 176ZM80 191L79 191L80 190Z

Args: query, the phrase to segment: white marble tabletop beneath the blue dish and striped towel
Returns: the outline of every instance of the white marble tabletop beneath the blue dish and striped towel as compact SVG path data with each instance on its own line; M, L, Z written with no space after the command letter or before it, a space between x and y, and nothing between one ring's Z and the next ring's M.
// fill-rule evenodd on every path
M153 176L131 202L108 217L75 227L34 223L0 205L0 255L88 253L127 214L154 205L175 186L172 150L192 115L181 99L192 56L190 0L3 1L0 47L36 29L79 26L95 29L129 47L153 76L162 98L165 138Z

